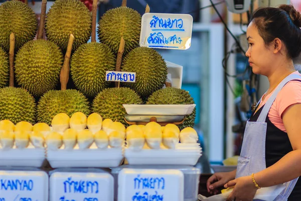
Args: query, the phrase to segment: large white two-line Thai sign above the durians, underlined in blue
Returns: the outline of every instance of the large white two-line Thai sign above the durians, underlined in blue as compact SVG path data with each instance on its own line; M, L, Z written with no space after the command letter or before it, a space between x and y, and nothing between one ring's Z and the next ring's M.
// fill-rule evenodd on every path
M191 46L193 17L189 14L145 13L140 46L187 50Z

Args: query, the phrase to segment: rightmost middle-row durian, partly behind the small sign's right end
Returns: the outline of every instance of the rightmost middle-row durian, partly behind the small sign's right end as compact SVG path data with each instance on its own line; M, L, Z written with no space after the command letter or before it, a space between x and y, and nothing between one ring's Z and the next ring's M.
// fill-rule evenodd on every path
M167 65L154 49L138 47L129 52L122 62L122 71L136 72L136 82L123 82L141 97L147 98L163 88L167 79Z

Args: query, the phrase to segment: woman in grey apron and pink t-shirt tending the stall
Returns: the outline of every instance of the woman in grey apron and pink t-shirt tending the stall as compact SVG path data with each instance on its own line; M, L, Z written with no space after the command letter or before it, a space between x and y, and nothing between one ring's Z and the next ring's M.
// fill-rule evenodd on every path
M215 173L208 192L234 187L227 200L253 200L257 189L285 185L275 200L301 200L301 14L290 5L256 10L247 28L246 56L269 89L247 122L237 169Z

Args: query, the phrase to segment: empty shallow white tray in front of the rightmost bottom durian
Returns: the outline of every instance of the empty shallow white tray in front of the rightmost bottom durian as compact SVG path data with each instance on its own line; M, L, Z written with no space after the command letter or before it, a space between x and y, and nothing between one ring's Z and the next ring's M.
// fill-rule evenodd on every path
M190 115L195 104L191 105L122 105L128 115Z

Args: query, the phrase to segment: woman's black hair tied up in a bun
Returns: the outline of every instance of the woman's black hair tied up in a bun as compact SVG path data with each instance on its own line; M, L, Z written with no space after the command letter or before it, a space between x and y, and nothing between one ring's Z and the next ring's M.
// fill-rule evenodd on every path
M266 45L279 38L287 49L291 59L301 53L301 14L291 5L280 5L278 8L259 8L252 17L259 35Z

